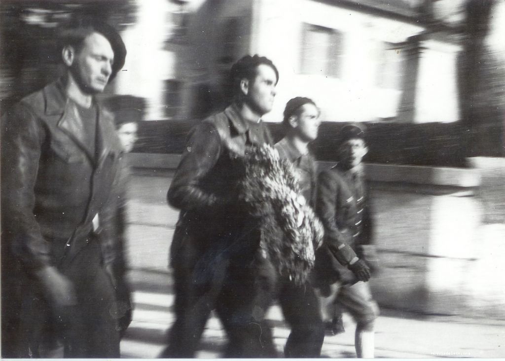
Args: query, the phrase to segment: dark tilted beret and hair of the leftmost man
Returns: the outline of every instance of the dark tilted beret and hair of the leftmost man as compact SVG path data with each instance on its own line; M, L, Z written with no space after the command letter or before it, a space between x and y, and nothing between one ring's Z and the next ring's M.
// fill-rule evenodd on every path
M114 63L109 81L114 79L123 68L126 59L126 46L119 33L111 25L95 20L91 17L76 17L66 23L60 29L58 35L58 51L61 54L63 48L71 45L76 51L82 49L84 39L92 33L103 35L111 44L114 51Z

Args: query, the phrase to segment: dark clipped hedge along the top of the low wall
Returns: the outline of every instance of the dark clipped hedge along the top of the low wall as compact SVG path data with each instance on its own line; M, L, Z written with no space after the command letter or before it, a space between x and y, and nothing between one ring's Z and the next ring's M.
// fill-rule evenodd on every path
M184 149L189 129L197 121L140 122L134 151L138 153L178 154ZM265 123L275 141L284 136L282 123ZM333 161L335 143L346 122L324 121L312 144L317 159ZM466 167L464 129L453 123L365 122L369 153L374 164Z

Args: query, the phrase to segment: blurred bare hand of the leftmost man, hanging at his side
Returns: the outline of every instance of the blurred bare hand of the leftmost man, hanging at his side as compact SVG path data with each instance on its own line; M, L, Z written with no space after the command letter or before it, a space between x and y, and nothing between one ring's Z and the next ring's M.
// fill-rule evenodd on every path
M67 277L58 272L55 267L46 266L35 274L42 283L45 294L55 307L60 308L77 303L74 285Z

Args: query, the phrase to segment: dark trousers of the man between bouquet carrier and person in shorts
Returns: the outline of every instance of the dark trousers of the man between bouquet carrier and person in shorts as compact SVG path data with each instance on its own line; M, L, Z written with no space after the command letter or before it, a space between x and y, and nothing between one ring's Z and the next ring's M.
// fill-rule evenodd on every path
M312 285L296 285L288 279L279 283L279 303L291 333L284 348L286 357L319 357L324 341L324 324L319 299Z

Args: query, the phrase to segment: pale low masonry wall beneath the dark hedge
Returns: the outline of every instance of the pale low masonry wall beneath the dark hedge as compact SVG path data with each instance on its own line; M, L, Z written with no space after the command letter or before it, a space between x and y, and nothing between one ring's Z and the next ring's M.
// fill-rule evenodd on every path
M129 157L134 167L159 169L157 174L174 169L180 159ZM366 172L382 265L370 281L379 304L421 314L505 319L505 224L483 223L482 174L489 171L367 164Z

